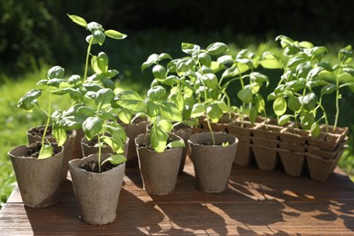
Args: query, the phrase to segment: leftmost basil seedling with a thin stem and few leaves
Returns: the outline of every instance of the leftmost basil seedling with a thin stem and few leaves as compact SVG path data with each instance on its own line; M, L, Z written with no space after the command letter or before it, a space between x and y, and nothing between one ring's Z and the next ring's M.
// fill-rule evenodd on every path
M52 96L55 92L60 91L61 84L64 83L64 68L56 65L48 70L47 78L40 80L37 83L38 88L32 89L19 100L17 106L25 109L28 112L33 112L34 107L38 107L45 115L46 122L44 126L44 133L42 136L42 146L38 159L49 158L53 155L53 148L49 142L45 141L48 127L52 124L52 133L58 145L62 146L66 140L66 133L60 129L55 123L52 123ZM38 98L43 95L43 92L48 93L48 106L45 109L38 102Z

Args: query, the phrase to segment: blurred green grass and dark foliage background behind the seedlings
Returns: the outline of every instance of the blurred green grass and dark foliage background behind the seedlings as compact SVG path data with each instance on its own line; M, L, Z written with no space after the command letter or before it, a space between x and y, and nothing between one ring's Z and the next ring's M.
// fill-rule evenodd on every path
M257 54L265 50L279 53L274 38L285 34L327 46L329 60L335 61L339 48L354 43L352 9L354 1L345 0L0 0L0 201L6 201L15 182L6 153L25 144L25 131L44 120L41 114L18 109L18 99L54 64L63 66L67 75L83 74L86 32L66 14L128 34L120 42L107 39L93 53L108 54L110 68L120 71L116 82L143 93L152 74L142 74L141 64L152 53L182 56L182 42L206 47L220 41L235 52L250 48ZM268 75L275 86L280 72ZM354 99L349 90L342 93L339 126L349 126L350 138L340 166L351 173ZM332 111L329 117L333 117L333 97L327 99Z

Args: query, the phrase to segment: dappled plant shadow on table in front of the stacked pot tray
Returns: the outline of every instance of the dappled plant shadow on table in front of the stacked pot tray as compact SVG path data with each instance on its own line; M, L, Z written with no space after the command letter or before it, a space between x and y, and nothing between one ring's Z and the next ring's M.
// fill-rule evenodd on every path
M247 167L253 171L253 167ZM257 170L258 171L258 170ZM258 171L261 172L261 171ZM283 215L301 217L307 213L310 217L320 221L344 221L344 225L350 231L354 231L354 206L349 200L354 192L354 184L346 175L338 173L329 176L327 182L316 182L309 177L291 177L282 174L271 174L267 178L257 177L254 174L231 175L229 190L249 197L249 201L238 206L238 209L228 207L227 204L215 204L225 211L232 219L245 225L269 225L283 221ZM254 186L253 192L259 192L264 199L252 201L250 184ZM351 199L351 198L350 198ZM265 201L261 207L258 202ZM295 210L289 211L290 209ZM319 212L320 211L320 212ZM351 223L350 223L351 222ZM351 224L351 226L350 226ZM249 231L240 228L240 231Z

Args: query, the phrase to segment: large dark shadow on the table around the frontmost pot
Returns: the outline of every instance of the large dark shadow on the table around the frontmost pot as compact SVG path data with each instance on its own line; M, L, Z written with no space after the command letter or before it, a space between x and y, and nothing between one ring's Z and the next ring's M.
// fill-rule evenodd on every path
M71 182L61 187L59 202L44 209L25 207L34 235L146 235L161 231L163 214L152 203L141 201L122 189L117 218L106 225L90 225L79 217Z

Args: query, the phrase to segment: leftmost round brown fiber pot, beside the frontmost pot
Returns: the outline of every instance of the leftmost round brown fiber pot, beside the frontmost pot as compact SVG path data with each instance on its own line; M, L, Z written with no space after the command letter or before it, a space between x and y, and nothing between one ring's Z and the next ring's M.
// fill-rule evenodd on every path
M45 159L29 157L29 148L25 145L8 152L22 200L27 207L44 208L58 202L64 156L62 147L52 146L54 156Z

